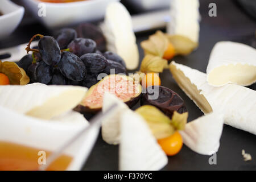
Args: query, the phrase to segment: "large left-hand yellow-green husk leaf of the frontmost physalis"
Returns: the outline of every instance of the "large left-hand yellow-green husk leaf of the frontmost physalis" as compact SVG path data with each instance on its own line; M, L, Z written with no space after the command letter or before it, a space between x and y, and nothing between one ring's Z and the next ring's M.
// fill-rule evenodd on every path
M171 119L156 107L144 105L135 111L145 119L156 139L166 138L174 134L175 129L170 125Z

